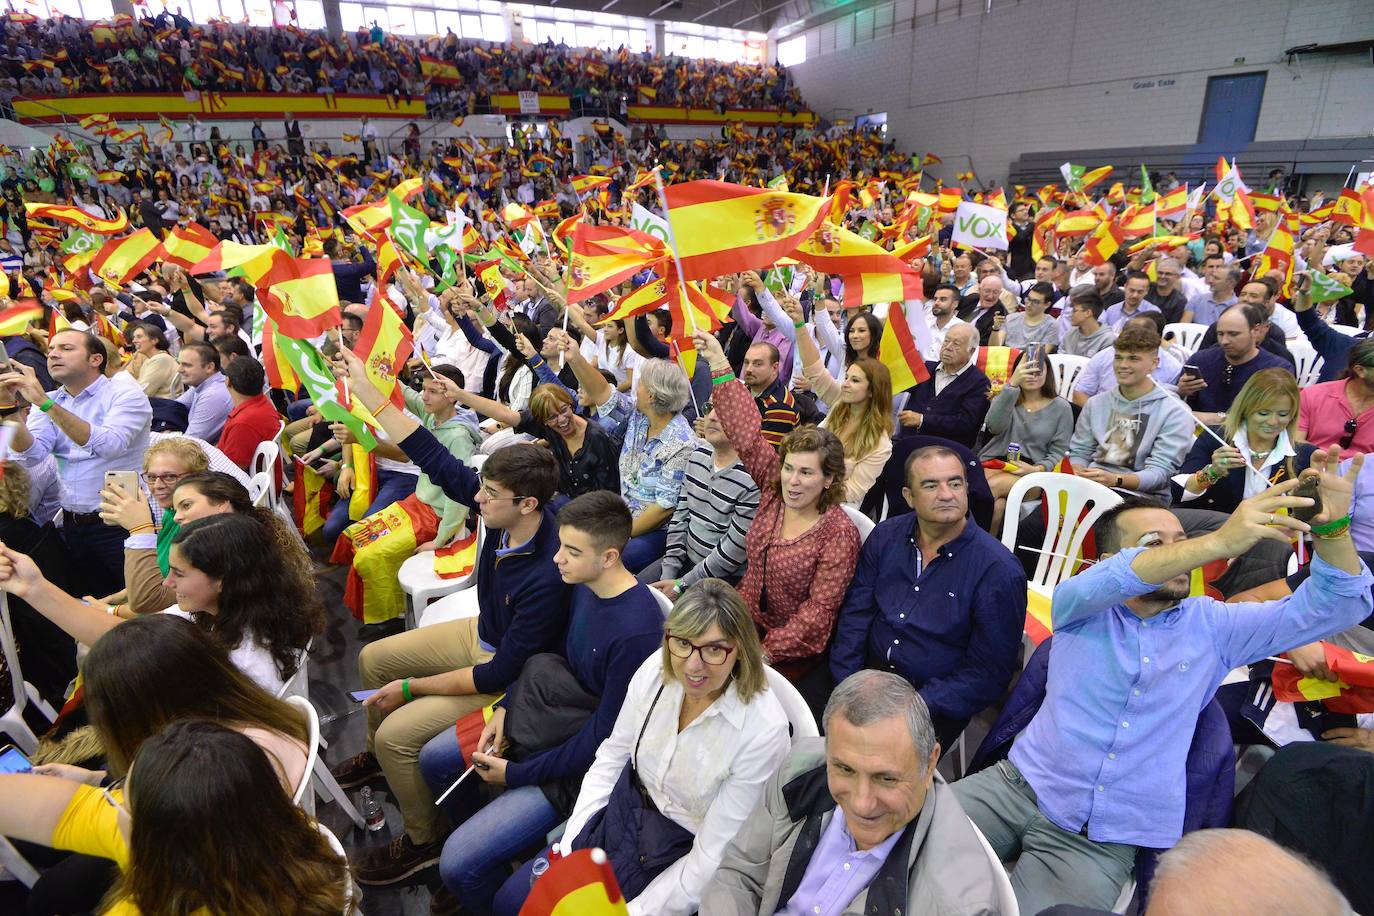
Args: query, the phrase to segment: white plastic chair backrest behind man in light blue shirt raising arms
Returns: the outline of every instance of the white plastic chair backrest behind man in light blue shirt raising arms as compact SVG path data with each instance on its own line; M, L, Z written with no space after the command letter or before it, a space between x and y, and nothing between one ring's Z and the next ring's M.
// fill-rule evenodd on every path
M1101 483L1073 474L1026 474L1007 493L1007 515L1002 525L1002 542L1013 553L1017 552L1021 503L1030 490L1044 492L1048 515L1044 544L1029 545L1041 551L1029 585L1050 595L1055 585L1073 574L1076 558L1083 549L1083 538L1092 530L1092 523L1109 508L1121 503L1121 497Z

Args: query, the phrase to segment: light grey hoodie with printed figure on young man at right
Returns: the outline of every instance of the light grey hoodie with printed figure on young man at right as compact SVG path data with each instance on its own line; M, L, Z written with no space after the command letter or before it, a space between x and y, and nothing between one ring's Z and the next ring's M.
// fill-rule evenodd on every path
M1139 474L1136 492L1168 505L1169 478L1183 464L1195 426L1191 411L1158 383L1134 401L1112 389L1084 405L1069 460L1109 474Z

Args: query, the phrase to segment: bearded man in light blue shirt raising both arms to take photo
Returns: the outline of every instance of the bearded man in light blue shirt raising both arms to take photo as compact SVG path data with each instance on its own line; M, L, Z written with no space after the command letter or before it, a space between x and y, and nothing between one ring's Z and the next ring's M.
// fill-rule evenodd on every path
M1311 504L1289 494L1297 481L1245 500L1193 540L1171 512L1136 500L1094 526L1103 559L1054 593L1044 703L1007 761L954 786L992 849L1020 856L1011 886L1024 912L1112 906L1136 849L1168 849L1182 835L1194 726L1227 673L1369 617L1374 577L1349 537L1359 467L1337 477L1338 460L1338 449L1312 456L1316 558L1311 577L1276 602L1189 597L1189 578L1260 540L1309 530L1281 515Z

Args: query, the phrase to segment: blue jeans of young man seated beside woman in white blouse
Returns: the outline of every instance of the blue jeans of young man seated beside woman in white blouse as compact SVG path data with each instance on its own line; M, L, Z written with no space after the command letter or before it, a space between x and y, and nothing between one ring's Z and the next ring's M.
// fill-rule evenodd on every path
M458 736L445 728L420 748L420 773L434 797L453 784L466 768ZM467 777L448 799L459 795L477 775ZM464 913L491 913L492 900L506 882L506 862L528 850L541 846L548 831L562 820L537 786L507 788L492 802L469 817L444 842L438 860L438 873L455 897L463 904ZM529 893L529 878L525 879L525 893ZM525 897L521 895L521 901ZM518 911L519 906L515 908ZM514 912L514 911L513 911Z

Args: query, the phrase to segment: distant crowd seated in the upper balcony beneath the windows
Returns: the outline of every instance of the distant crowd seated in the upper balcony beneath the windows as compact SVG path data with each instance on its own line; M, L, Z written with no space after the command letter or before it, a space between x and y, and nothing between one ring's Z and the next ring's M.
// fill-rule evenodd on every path
M71 18L0 19L0 102L15 96L110 92L370 93L427 99L458 115L491 111L492 96L547 92L578 106L620 108L653 102L677 107L804 111L779 65L655 56L644 48L569 48L390 34L372 23L331 37L294 25L195 25L180 8L109 23ZM430 62L426 73L422 58ZM438 69L442 73L438 73Z

